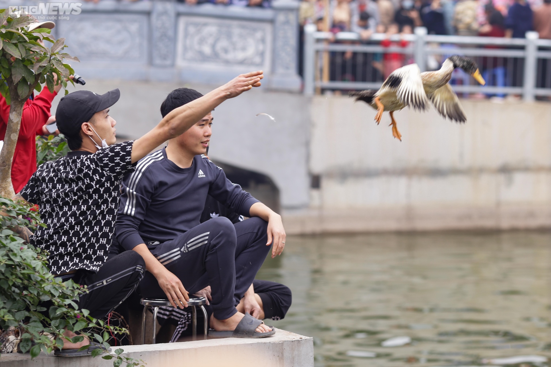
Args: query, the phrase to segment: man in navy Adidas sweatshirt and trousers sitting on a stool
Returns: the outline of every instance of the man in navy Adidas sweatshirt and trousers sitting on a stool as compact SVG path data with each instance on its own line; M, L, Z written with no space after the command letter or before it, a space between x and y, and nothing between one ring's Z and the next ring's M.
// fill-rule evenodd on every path
M161 105L165 116L175 108L202 97L180 88ZM281 217L228 180L222 168L204 154L213 117L211 113L165 149L143 158L136 171L123 180L116 233L126 250L138 251L148 272L140 284L147 298L168 298L183 308L187 293L210 286L212 337L260 337L275 331L236 309L247 294L254 299L252 281L272 247L272 257L282 253L285 230ZM228 218L200 223L207 195L228 209L251 217L236 224ZM243 317L235 331L225 328L231 317ZM241 325L243 324L243 325ZM245 331L245 324L256 330ZM250 329L250 327L249 327Z

